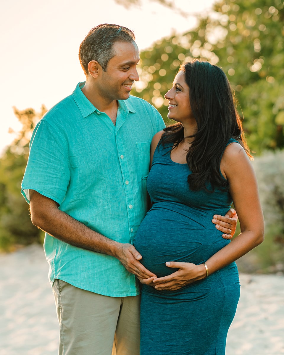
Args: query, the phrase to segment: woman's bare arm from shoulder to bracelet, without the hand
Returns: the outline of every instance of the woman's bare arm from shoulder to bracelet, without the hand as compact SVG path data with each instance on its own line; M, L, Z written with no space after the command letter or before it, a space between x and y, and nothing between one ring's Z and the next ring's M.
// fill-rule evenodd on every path
M264 219L251 162L238 143L225 149L220 169L229 182L241 233L209 260L209 274L237 260L264 240Z

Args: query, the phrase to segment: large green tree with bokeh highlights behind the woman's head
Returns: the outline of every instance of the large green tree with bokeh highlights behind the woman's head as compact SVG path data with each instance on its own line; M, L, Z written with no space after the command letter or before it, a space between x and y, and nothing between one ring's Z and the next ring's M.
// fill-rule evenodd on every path
M284 10L281 0L220 1L196 29L173 34L141 52L140 82L133 94L152 101L166 118L164 94L184 61L222 67L244 116L250 148L284 146Z

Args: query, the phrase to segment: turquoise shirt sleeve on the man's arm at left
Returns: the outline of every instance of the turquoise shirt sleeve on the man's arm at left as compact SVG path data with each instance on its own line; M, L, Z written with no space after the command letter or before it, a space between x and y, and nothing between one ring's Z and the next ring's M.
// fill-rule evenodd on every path
M59 130L42 119L35 127L29 145L22 195L29 203L28 190L35 190L61 204L69 181L67 142Z

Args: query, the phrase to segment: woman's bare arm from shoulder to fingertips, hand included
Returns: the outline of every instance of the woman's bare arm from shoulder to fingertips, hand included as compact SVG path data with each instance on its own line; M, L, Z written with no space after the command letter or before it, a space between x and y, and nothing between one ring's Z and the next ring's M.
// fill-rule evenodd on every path
M264 219L258 197L256 176L244 149L238 143L226 147L220 169L229 182L230 194L240 220L241 233L206 261L209 275L239 259L264 239ZM177 290L206 278L203 264L169 261L167 266L179 268L173 274L153 280L159 290Z

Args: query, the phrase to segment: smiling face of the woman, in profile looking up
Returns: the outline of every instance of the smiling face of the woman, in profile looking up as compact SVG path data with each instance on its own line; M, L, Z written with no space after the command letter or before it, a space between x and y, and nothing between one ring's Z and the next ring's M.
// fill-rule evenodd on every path
M190 107L189 87L184 79L184 72L180 71L175 77L173 87L165 94L165 99L169 100L168 118L181 122L195 121Z

